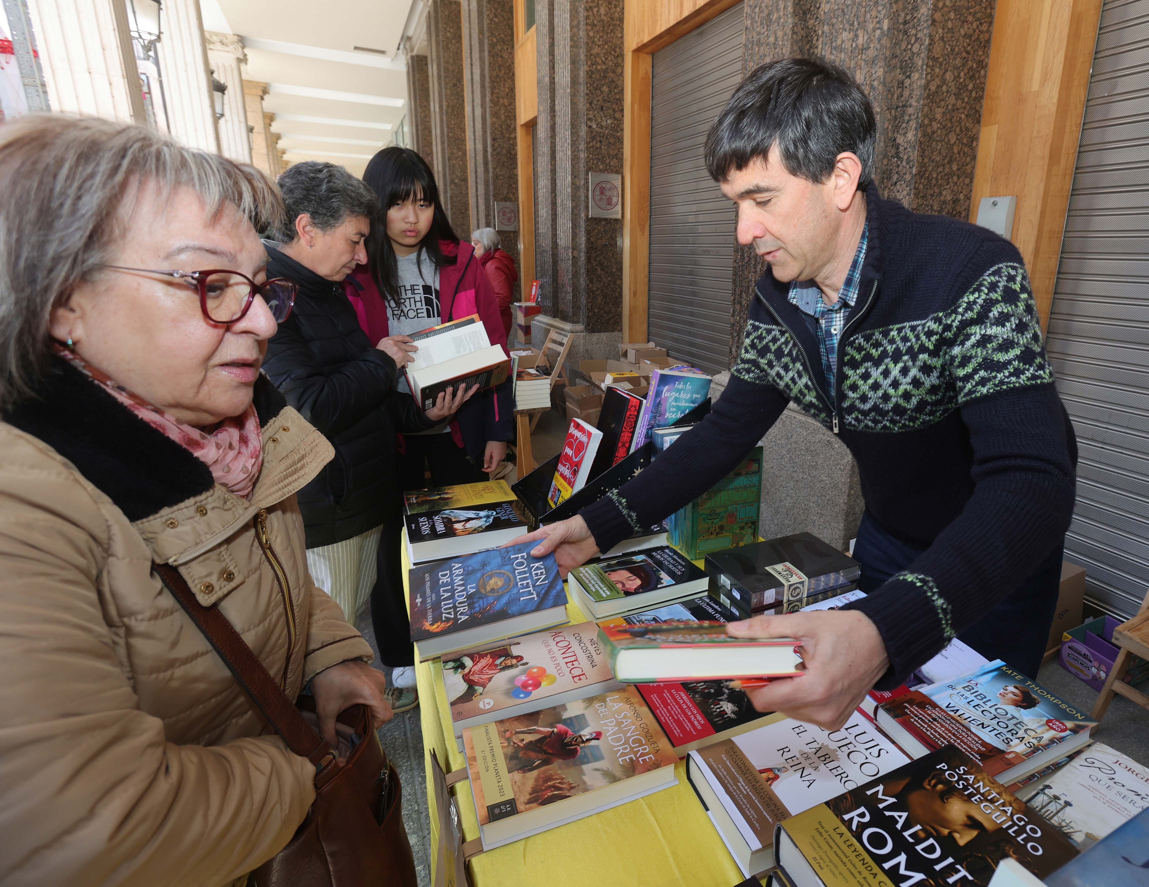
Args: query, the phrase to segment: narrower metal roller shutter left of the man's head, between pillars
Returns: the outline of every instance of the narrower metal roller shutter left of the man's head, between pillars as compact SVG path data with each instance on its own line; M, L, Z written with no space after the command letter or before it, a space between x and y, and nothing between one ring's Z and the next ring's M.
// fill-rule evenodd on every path
M650 79L649 338L718 372L730 364L734 208L702 149L742 79L743 5L654 54Z

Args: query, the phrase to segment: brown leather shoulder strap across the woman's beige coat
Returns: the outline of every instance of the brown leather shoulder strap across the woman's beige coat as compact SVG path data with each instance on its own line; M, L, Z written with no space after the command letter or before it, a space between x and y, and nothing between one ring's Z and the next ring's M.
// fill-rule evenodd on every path
M333 757L327 743L316 733L299 714L287 694L280 689L276 679L260 662L239 632L224 618L215 607L205 607L187 587L187 580L179 571L169 564L153 563L152 569L160 577L172 597L203 632L203 637L219 654L228 669L234 676L263 717L283 736L287 748L301 757L306 757L318 766L324 758Z

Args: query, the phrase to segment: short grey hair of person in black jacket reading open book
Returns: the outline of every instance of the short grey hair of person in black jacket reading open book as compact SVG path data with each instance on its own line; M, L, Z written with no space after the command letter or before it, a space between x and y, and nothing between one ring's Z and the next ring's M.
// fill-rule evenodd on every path
M379 199L362 179L336 163L306 160L279 175L287 216L277 234L282 244L298 238L295 219L304 213L321 231L339 227L348 216L375 218Z

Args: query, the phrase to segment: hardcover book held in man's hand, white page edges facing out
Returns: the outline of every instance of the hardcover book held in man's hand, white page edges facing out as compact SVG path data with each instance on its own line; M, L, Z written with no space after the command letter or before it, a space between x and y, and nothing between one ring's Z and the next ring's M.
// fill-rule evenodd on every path
M793 638L734 638L720 622L599 626L624 684L782 678L802 662Z

